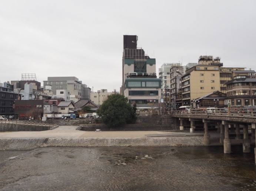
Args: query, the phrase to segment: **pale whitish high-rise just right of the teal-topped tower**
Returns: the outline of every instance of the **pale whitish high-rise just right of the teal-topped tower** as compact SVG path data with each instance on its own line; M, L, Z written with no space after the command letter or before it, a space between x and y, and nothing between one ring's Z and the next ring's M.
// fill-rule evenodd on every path
M171 87L171 81L170 81L170 69L173 66L181 66L180 63L163 63L161 68L159 68L159 78L161 79L161 96L169 97L170 94L170 87Z

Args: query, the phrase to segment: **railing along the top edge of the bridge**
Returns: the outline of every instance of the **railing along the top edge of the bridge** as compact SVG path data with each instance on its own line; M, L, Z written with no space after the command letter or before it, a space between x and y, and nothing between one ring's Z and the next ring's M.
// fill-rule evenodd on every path
M206 108L197 108L190 111L186 110L175 110L170 112L171 115L239 115L239 116L256 116L256 108L251 107L230 107L228 108L215 108L213 110L208 110Z

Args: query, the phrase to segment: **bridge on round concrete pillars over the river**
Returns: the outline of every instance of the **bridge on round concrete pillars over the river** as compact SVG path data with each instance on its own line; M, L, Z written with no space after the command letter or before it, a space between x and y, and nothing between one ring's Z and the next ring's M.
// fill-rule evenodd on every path
M215 127L220 133L220 143L224 153L231 153L232 144L243 144L243 152L249 153L250 146L255 145L256 111L252 108L218 108L213 111L205 109L172 111L170 115L180 120L180 130L184 130L184 122L190 122L190 133L195 132L203 124L204 144L210 145L209 128ZM199 123L197 123L199 122ZM233 134L235 133L235 137ZM255 164L256 164L256 148Z

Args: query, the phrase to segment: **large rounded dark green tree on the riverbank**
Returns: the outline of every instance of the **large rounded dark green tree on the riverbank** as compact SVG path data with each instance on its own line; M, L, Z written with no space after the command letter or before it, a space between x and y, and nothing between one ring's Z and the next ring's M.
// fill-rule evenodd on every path
M120 94L109 95L96 112L108 126L134 123L137 119L136 104L132 107L128 98Z

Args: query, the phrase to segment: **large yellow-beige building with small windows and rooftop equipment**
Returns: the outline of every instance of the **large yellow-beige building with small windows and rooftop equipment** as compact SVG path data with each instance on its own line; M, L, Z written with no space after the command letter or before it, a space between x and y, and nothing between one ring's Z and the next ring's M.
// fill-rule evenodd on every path
M243 67L222 67L220 57L200 56L198 65L186 70L182 76L182 104L190 105L196 98L213 91L226 93L226 83L232 79L232 71Z

